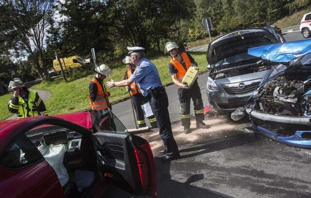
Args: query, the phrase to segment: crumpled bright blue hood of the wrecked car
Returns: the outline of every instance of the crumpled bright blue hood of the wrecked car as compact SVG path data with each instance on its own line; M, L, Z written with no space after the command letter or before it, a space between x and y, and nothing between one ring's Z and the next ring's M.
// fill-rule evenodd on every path
M289 62L311 53L311 39L271 44L248 49L248 54L273 62Z

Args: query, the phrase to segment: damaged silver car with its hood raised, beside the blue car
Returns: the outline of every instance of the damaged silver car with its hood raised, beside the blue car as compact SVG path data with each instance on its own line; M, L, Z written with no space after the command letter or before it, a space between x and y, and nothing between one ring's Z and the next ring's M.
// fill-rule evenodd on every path
M230 32L208 46L211 72L207 79L207 98L214 111L225 113L244 106L251 93L286 66L266 63L247 54L248 48L284 42L277 32L246 29Z

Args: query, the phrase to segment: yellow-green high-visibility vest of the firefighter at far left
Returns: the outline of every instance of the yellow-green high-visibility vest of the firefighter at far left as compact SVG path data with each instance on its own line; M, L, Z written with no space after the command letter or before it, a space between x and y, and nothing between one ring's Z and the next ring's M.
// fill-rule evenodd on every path
M29 91L29 94L28 94L28 108L29 109L27 109L27 104L25 103L24 99L18 96L17 118L39 116L38 105L40 103L39 104L34 103L36 93L37 92L35 91ZM41 102L41 98L39 98L39 101Z

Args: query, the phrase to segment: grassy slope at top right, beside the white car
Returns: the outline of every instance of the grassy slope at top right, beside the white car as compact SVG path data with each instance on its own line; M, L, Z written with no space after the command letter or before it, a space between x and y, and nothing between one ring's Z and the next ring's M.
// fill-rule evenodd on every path
M278 26L279 28L287 28L295 25L299 25L302 19L302 16L308 12L311 12L311 6L295 12L293 15L285 16L282 19L279 19L273 24L273 26Z

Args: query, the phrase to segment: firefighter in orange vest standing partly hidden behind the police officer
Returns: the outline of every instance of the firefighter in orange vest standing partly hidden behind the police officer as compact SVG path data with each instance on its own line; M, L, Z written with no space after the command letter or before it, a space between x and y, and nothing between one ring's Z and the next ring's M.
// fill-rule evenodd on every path
M134 65L131 62L129 56L125 57L122 62L126 64L126 66L128 67L128 70L124 74L124 79L129 79L131 75L134 73L136 65ZM138 127L139 128L145 127L146 122L142 105L146 104L148 106L149 105L148 99L145 96L143 96L142 92L140 91L139 84L136 82L132 82L131 85L126 86L126 90L129 91L131 94L132 104L135 110ZM149 119L152 128L158 128L157 119L153 114L148 116L147 118Z

